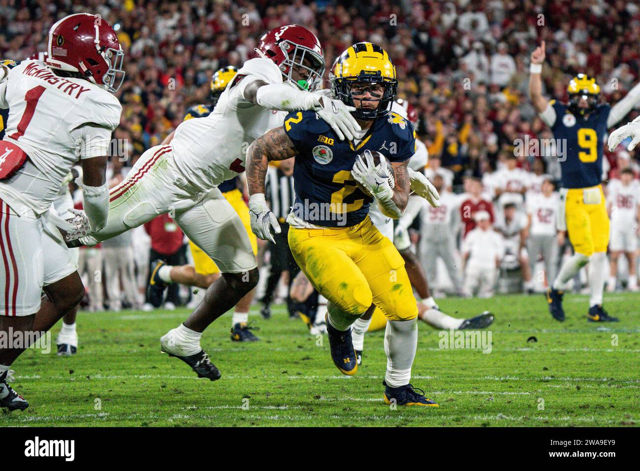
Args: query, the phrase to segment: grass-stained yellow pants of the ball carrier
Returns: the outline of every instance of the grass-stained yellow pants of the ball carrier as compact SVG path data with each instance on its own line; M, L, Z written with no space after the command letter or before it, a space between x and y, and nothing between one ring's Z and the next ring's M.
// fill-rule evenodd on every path
M373 302L390 320L417 317L404 260L369 217L351 227L290 227L289 247L311 284L340 310L361 315Z

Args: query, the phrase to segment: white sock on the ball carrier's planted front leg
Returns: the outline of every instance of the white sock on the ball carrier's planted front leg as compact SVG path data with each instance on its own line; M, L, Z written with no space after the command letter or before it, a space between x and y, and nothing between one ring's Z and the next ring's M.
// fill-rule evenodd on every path
M390 388L399 388L411 381L411 367L418 345L418 324L413 320L390 320L385 330L387 373Z

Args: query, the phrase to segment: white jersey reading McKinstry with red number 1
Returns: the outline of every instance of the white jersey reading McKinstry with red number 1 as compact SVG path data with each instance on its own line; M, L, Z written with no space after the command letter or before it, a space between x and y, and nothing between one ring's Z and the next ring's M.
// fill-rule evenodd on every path
M39 60L10 70L0 84L0 108L9 108L4 140L29 156L26 165L4 180L3 194L19 194L46 211L71 167L81 158L105 156L122 106L99 86L63 78Z

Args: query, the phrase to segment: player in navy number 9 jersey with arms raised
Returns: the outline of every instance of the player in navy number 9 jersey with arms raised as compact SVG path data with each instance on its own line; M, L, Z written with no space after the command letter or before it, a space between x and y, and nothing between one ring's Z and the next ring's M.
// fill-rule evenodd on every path
M545 42L531 54L529 95L541 120L551 128L562 171L559 229L568 231L575 254L564 263L547 292L548 308L556 320L564 320L563 294L567 283L589 263L588 319L592 322L618 320L602 308L607 273L609 216L602 191L602 153L607 129L620 122L640 101L640 84L611 107L599 103L600 87L595 79L578 74L569 83L568 103L548 101L542 95L541 71Z

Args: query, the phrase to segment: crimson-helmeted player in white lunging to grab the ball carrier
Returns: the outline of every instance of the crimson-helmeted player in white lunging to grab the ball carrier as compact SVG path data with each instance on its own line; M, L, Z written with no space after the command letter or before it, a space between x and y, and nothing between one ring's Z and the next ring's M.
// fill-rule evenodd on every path
M353 140L360 131L349 114L355 108L312 93L321 83L324 58L311 31L296 25L272 29L255 51L260 57L244 63L210 115L182 122L170 144L142 154L127 179L110 192L107 226L80 239L95 245L169 213L216 263L221 276L207 288L204 300L160 340L164 352L211 381L221 375L200 347L202 332L258 281L243 222L217 186L244 172L248 145L282 126L286 112L315 110L340 138ZM259 206L250 207L252 217Z

